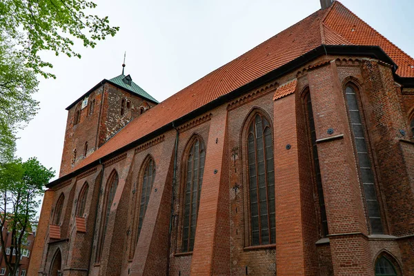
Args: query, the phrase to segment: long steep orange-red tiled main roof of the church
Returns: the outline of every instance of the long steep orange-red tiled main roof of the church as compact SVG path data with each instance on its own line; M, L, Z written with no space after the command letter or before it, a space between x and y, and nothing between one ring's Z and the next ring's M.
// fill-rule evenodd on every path
M322 44L380 46L397 63L400 77L414 77L414 60L359 19L342 3L318 10L195 83L125 126L77 164L82 168L233 90L297 59Z

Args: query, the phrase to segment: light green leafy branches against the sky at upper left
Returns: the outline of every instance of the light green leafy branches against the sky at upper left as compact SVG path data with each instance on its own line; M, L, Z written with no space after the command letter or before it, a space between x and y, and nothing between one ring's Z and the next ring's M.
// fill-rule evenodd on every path
M37 75L55 78L41 52L80 58L75 41L94 48L119 30L108 17L88 14L96 7L86 0L0 0L0 163L13 157L17 128L38 110Z

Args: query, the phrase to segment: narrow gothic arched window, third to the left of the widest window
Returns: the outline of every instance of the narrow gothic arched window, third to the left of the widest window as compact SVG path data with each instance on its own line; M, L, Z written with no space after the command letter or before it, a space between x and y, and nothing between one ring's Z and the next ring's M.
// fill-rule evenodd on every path
M101 216L101 233L100 233L100 239L99 239L99 244L98 244L96 262L99 262L101 260L103 242L105 241L106 228L108 227L110 207L112 206L112 201L114 200L115 192L117 191L118 180L119 180L118 174L114 170L110 174L110 177L108 179L108 182L106 184L106 189L105 189L105 197L103 201L104 204L103 204L102 216Z

